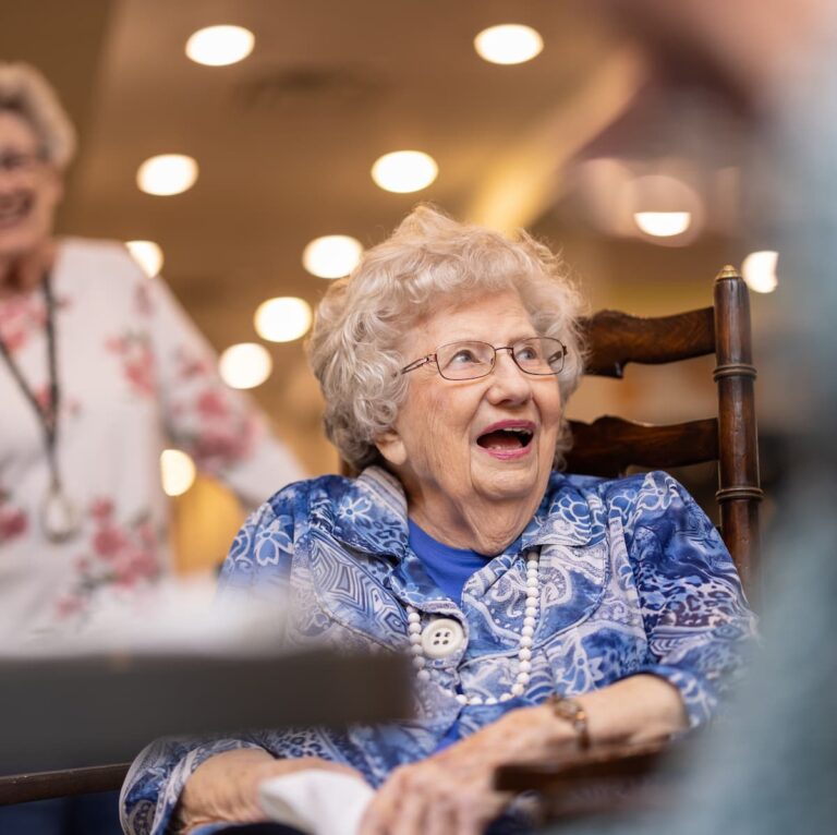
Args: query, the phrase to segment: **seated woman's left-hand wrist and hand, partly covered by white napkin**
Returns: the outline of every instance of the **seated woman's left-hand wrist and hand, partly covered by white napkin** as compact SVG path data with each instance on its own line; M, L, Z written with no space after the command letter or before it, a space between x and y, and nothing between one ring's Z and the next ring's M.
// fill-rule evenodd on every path
M354 769L318 757L277 760L260 748L225 751L201 763L186 780L178 807L178 832L187 835L197 826L218 821L266 821L267 815L258 803L259 785L269 777L311 769L349 774L364 780Z

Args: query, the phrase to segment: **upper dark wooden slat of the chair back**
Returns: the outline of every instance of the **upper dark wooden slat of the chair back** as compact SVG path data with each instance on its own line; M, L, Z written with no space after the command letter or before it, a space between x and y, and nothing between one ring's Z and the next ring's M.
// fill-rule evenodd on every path
M715 353L712 307L655 318L599 311L581 327L590 350L584 371L599 377L621 377L629 362L658 365Z

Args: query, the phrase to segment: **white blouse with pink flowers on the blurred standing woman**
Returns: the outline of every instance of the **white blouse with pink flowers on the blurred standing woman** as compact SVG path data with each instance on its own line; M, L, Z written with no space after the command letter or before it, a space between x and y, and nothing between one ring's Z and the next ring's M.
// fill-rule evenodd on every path
M57 457L81 530L50 542L49 483L32 404L0 362L0 629L21 637L129 603L170 569L159 456L189 452L251 508L302 475L253 403L218 377L215 355L160 279L123 246L68 239L52 271ZM40 290L0 299L0 337L35 396L49 397Z

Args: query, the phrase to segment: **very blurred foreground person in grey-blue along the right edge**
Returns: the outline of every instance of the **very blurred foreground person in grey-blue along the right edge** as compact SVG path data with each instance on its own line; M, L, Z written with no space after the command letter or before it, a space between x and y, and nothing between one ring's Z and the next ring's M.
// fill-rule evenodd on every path
M616 0L601 0L620 15ZM767 367L790 403L776 521L764 537L763 642L717 733L695 752L669 811L579 825L561 835L786 835L837 820L837 9L826 0L636 0L632 21L663 65L690 56L693 75L743 105L763 167L778 180L767 228L779 252L776 303L792 338ZM678 70L682 63L678 59ZM777 177L778 172L778 177ZM783 302L783 295L785 301ZM766 335L771 346L776 337ZM761 371L760 371L761 373Z

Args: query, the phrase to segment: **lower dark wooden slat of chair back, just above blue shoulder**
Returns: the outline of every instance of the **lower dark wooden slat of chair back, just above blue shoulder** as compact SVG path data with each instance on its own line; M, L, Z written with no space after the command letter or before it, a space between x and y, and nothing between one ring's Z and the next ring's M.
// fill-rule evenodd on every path
M715 418L665 426L605 416L593 423L570 421L573 446L569 472L617 476L629 467L665 469L714 461L718 457Z

